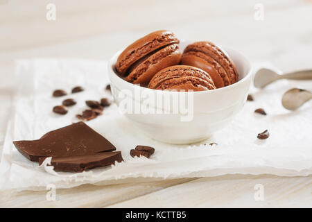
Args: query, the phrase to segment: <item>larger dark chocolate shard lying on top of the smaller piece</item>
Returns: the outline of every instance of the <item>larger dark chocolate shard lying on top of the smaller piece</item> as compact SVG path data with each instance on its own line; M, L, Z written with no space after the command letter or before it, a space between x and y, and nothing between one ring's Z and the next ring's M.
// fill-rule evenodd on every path
M116 148L82 121L53 130L37 140L14 141L17 150L31 161L40 157L93 155Z

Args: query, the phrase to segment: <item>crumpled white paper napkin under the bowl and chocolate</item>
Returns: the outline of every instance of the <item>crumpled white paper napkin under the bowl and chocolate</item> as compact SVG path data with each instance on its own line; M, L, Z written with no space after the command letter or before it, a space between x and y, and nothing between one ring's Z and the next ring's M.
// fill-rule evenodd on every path
M227 173L312 174L312 103L306 103L295 112L281 106L281 96L287 89L302 87L311 90L312 81L279 80L263 90L250 89L254 101L246 102L229 126L206 142L192 146L163 144L141 135L113 104L102 116L86 123L110 140L117 151L122 152L125 162L83 173L56 173L51 167L44 169L26 159L12 141L38 139L50 130L78 121L75 115L87 108L86 100L111 96L105 91L109 83L107 62L19 60L16 77L14 108L0 163L1 189L38 190L46 189L50 184L61 189L85 183L103 185ZM85 91L70 94L77 85L83 86ZM54 89L64 89L69 94L53 98ZM78 103L64 116L54 114L51 111L53 106L60 105L67 98L76 99ZM263 108L268 115L254 114L256 108ZM257 134L266 129L270 137L257 139ZM211 142L218 145L209 146ZM130 157L130 149L138 144L155 147L155 153L150 159Z

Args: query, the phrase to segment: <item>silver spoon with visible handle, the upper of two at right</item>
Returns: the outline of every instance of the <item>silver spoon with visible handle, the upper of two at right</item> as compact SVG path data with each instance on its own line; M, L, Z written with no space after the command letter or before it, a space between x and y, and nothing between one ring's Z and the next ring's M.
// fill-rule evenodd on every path
M296 79L296 80L312 80L312 70L293 71L288 74L277 74L272 69L259 69L254 76L254 86L263 88L266 85L273 83L275 80L282 78Z

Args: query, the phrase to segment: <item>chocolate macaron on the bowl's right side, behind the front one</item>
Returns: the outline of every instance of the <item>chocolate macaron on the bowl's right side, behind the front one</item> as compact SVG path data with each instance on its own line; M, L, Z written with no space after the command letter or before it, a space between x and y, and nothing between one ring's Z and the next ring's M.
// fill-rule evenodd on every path
M234 62L227 53L211 42L195 42L184 49L182 65L191 65L206 71L217 88L239 80Z

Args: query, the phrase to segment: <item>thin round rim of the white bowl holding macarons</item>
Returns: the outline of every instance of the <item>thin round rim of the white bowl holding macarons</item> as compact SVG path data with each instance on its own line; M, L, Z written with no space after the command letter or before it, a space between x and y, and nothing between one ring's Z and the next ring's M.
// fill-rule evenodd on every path
M191 40L180 40L180 42L192 42ZM227 50L230 50L230 51L234 51L235 53L238 53L239 56L241 56L241 58L243 58L243 60L245 60L248 65L249 65L249 70L247 71L247 74L241 78L240 80L238 80L236 83L233 83L231 85L227 85L225 87L221 87L221 88L218 88L218 89L211 89L211 90L203 90L203 91L193 91L191 93L193 94L214 94L214 93L217 93L217 92L223 92L225 90L230 90L234 87L237 87L238 85L241 85L241 83L245 82L246 80L248 80L248 78L250 76L252 76L252 64L250 62L250 60L248 58L246 58L243 53L241 53L241 51L238 51L236 49L232 49L232 48L229 48L229 47L226 47L226 46L219 46L221 49L223 49L225 52L227 52ZM110 69L109 71L109 76L112 76L112 74L114 74L114 77L116 77L117 79L123 81L123 83L125 83L126 85L129 85L129 87L141 87L143 90L150 90L151 92L158 92L158 93L164 93L164 94L175 94L175 93L183 93L183 94L187 94L187 93L190 93L190 92L180 92L180 91L169 91L169 90L159 90L159 89L150 89L148 87L143 87L141 85L137 85L137 84L133 84L133 83L129 83L128 81L124 80L123 78L121 78L121 76L119 76L115 69L114 69L114 65L115 65L115 60L117 60L118 56L121 54L121 52L123 51L123 49L119 50L119 51L116 51L116 53L114 53L114 55L112 56L112 58L110 58L110 60L108 61L108 69ZM112 72L112 74L111 74ZM113 78L114 78L113 77Z

